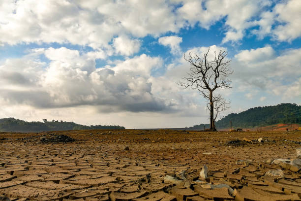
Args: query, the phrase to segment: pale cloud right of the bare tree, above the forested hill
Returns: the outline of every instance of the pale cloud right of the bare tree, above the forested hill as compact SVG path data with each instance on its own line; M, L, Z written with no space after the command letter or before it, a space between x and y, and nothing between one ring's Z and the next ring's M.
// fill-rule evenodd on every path
M242 86L242 91L255 87L276 96L285 94L285 99L290 100L300 96L300 58L301 49L287 49L279 56L269 46L242 50L232 64L234 82Z

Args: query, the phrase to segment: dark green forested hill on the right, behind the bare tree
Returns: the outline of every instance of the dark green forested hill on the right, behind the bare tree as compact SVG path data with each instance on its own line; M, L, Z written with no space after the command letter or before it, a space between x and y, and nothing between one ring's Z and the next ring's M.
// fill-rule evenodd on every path
M215 122L217 129L230 127L244 128L253 126L268 126L273 124L301 123L301 106L295 103L281 103L274 106L254 107L241 113L231 113ZM204 130L209 124L200 124L189 127L189 130Z

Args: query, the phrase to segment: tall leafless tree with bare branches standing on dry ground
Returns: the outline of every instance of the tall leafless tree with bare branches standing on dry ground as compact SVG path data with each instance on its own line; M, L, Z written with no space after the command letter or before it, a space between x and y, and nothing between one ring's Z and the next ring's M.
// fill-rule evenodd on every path
M216 131L215 119L219 112L229 108L230 101L227 102L220 94L213 95L213 92L218 88L231 88L231 80L228 79L228 76L233 73L233 70L229 67L231 60L226 59L228 52L222 50L218 53L214 52L212 60L208 59L209 52L210 48L202 58L197 54L191 55L191 52L188 57L184 54L184 59L189 62L190 69L187 72L188 76L183 77L183 81L179 81L178 85L196 89L207 99L207 108L210 111L210 130Z

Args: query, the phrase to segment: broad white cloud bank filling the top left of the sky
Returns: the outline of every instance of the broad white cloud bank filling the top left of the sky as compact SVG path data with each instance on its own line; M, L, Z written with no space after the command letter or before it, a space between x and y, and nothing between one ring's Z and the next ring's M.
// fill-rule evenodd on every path
M0 19L0 43L10 45L68 42L99 49L121 33L144 37L180 29L172 6L161 0L6 1Z

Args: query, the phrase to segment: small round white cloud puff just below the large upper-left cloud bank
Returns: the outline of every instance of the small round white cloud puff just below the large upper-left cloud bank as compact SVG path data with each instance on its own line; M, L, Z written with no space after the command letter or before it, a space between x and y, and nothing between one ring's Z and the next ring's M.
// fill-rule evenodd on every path
M138 39L129 39L126 36L119 36L114 38L113 46L117 53L121 55L130 56L139 52L141 41Z

